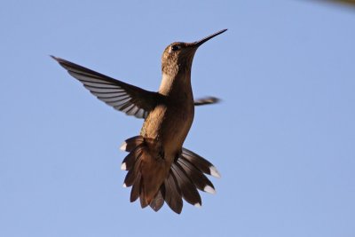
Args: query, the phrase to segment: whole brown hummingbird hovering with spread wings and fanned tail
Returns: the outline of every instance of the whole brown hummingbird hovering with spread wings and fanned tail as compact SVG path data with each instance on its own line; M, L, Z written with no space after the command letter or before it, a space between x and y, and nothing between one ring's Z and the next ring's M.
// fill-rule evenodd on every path
M180 214L183 199L201 207L198 189L216 193L206 177L220 178L216 167L183 144L193 124L194 107L218 101L215 97L193 99L193 56L202 43L226 30L193 43L170 43L162 53L162 83L157 92L51 56L98 99L126 115L144 119L140 134L126 139L121 146L129 153L121 169L128 171L123 186L131 186L130 202L139 199L142 208L150 206L154 211L166 202Z

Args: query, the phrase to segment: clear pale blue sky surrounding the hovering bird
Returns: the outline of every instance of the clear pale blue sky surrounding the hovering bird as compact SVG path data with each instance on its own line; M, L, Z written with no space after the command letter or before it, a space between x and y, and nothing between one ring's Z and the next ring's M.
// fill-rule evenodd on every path
M355 9L320 1L3 1L0 236L355 236ZM185 147L217 194L181 215L130 203L119 146L142 120L49 55L156 91L172 42L193 61Z

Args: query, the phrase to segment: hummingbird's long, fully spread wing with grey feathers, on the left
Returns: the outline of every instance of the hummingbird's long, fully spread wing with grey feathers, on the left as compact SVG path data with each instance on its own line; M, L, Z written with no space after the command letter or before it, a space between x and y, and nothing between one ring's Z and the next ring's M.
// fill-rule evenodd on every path
M58 61L61 67L66 68L70 75L83 83L83 86L98 99L127 115L146 118L157 104L160 96L157 92L146 91L137 86L123 83L66 59L54 56L51 58Z

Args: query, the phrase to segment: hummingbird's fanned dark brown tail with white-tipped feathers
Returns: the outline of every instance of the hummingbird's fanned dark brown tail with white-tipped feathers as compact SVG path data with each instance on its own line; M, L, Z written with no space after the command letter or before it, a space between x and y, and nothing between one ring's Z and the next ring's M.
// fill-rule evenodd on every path
M152 140L141 136L129 138L121 149L130 152L121 166L122 170L128 170L123 186L132 186L130 201L139 198L142 208L149 205L158 211L165 201L170 209L181 213L182 199L201 207L201 196L197 189L209 194L216 193L205 174L217 178L220 178L220 174L210 162L192 151L183 148L168 169Z

